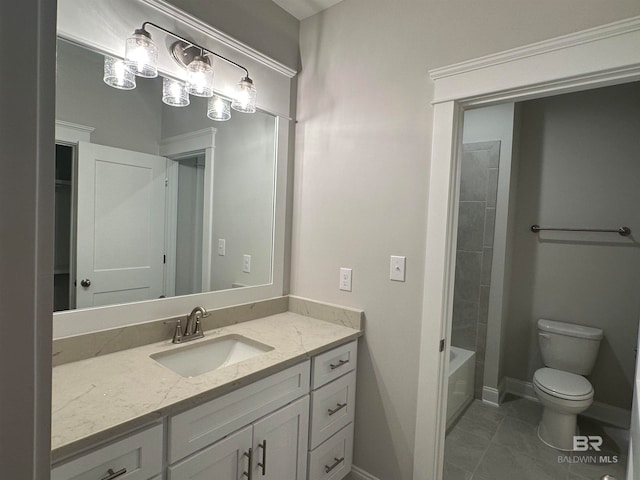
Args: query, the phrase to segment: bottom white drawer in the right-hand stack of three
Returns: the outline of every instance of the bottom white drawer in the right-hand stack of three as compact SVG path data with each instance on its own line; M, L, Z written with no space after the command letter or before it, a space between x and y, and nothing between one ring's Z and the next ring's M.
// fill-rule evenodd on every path
M341 480L351 471L353 423L309 452L309 480Z

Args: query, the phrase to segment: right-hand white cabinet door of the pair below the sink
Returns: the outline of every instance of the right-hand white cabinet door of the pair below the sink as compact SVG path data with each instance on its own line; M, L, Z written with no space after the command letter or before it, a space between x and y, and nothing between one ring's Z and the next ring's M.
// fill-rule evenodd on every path
M308 432L308 396L256 422L252 478L305 480Z

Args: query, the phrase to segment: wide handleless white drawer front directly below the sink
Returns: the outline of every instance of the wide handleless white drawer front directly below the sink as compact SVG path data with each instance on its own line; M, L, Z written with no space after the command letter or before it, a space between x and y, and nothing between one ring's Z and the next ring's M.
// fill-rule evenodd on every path
M211 445L309 392L309 361L169 419L169 463Z

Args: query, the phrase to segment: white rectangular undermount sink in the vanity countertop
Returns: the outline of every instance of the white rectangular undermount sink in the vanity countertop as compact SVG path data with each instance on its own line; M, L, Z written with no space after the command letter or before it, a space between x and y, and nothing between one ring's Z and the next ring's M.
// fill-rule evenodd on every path
M241 335L227 335L151 355L156 362L182 375L195 377L273 350Z

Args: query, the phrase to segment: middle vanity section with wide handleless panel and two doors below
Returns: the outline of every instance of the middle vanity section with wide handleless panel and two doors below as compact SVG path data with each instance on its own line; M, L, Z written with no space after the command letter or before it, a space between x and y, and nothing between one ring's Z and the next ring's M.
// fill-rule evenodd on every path
M305 480L309 384L306 361L169 418L167 480Z

